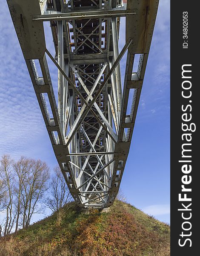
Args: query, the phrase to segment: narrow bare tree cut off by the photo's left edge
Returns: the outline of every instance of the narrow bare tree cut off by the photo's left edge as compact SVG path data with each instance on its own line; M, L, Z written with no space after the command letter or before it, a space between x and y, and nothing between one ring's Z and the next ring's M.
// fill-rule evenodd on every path
M3 155L0 160L0 179L2 181L2 186L5 187L8 194L6 200L6 217L4 223L3 235L6 236L11 233L12 227L14 225L15 215L13 211L13 170L12 170L13 160L9 155Z

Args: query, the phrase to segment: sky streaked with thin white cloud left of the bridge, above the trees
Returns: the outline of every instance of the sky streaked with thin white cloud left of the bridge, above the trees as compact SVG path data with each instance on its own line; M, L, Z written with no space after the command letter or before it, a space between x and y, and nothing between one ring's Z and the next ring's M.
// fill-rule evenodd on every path
M52 149L6 1L0 31L0 156L44 158Z

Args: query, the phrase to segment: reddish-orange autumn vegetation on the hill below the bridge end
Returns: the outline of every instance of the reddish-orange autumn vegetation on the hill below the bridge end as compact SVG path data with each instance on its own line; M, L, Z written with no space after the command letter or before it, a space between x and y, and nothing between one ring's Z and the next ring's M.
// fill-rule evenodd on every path
M125 209L116 209L107 218L101 215L82 220L77 231L80 235L74 241L74 250L81 255L138 256L148 250L150 253L152 247L158 253L163 244L157 233L138 225Z

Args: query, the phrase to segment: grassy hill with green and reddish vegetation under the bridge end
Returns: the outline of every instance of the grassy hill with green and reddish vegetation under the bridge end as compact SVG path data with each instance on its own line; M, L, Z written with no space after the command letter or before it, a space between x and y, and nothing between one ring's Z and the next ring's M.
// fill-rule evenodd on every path
M116 200L110 212L73 206L0 239L0 256L169 256L170 228Z

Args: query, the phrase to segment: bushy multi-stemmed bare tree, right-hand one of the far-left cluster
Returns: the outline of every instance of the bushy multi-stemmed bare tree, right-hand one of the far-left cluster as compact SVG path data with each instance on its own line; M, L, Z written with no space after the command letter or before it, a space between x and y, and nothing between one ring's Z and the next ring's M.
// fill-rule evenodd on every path
M29 159L21 191L22 226L27 228L34 213L41 213L44 195L48 189L49 167L41 160Z

